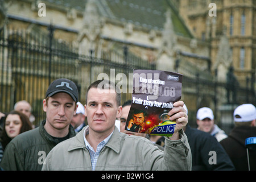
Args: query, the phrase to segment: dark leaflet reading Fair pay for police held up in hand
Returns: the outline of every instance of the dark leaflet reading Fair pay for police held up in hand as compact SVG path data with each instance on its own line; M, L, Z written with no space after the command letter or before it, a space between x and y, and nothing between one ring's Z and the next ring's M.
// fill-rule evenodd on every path
M183 75L174 72L134 69L132 104L126 130L171 137L176 122L168 112L181 98Z

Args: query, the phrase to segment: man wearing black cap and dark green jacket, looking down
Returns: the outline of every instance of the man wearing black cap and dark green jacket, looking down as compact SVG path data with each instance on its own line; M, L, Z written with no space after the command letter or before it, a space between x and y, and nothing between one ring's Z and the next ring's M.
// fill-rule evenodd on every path
M43 100L46 120L29 132L11 140L6 147L1 168L4 170L41 170L49 151L65 139L74 137L70 125L76 114L77 86L71 80L60 78L48 87Z

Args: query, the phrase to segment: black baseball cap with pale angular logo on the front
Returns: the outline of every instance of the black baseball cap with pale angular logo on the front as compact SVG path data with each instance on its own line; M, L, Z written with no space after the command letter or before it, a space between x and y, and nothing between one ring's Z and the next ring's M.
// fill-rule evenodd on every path
M46 91L46 98L59 92L69 94L69 96L71 96L76 103L79 100L79 93L76 84L67 78L59 78L51 82Z

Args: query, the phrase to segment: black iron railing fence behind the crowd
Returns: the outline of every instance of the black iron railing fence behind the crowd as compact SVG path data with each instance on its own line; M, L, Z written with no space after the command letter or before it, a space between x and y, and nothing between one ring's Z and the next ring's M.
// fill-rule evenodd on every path
M49 30L50 31L50 30ZM58 42L51 34L28 32L23 30L0 30L0 111L13 110L20 100L30 102L35 124L45 119L43 98L49 82L56 78L69 78L79 89L79 100L85 104L85 93L89 84L98 77L105 76L118 83L125 76L127 85L122 85L122 102L131 98L133 69L156 69L155 63L149 63L137 56L123 51L102 51L101 57L80 55L71 44ZM184 61L184 60L182 60ZM236 86L227 99L226 82L216 80L208 73L190 72L184 64L165 70L179 72L183 77L182 100L188 106L189 123L196 127L196 110L203 106L212 108L216 122L227 133L233 127L234 108L243 103L256 104L253 87ZM236 91L236 103L232 94Z

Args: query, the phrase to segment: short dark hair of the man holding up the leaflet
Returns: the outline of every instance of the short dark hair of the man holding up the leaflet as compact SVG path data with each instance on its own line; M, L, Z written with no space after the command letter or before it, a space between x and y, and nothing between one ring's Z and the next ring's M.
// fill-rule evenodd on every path
M90 86L88 87L87 92L86 92L86 97L85 97L86 104L87 104L88 92L91 88L115 90L115 94L116 94L115 100L117 101L117 105L121 106L121 90L118 87L115 87L115 84L112 81L104 79L104 80L94 81L92 84L90 84Z

